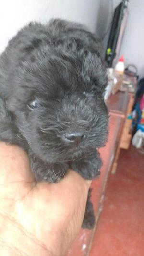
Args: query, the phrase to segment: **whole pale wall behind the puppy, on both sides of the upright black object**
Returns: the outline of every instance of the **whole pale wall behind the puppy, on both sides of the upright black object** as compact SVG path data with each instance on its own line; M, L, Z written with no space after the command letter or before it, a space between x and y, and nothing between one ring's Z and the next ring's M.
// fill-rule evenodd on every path
M103 38L106 49L109 24L121 0L0 0L0 52L8 40L32 20L60 17L86 24ZM121 45L126 65L133 63L144 76L144 0L129 1L128 22ZM107 32L107 33L106 33ZM105 36L104 36L105 35Z

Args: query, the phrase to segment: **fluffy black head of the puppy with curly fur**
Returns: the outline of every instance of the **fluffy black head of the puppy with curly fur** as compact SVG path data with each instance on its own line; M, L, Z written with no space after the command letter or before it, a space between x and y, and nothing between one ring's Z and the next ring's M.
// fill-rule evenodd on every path
M79 158L103 146L107 137L102 60L96 52L78 49L74 41L61 44L43 48L38 57L33 52L21 63L7 99L29 147L48 162Z

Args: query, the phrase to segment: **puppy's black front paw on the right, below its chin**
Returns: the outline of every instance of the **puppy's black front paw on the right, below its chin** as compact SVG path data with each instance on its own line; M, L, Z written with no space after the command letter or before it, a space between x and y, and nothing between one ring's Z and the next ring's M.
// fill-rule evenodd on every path
M70 167L77 171L84 179L92 180L100 174L102 161L99 152L93 150L89 156L80 160L73 161Z

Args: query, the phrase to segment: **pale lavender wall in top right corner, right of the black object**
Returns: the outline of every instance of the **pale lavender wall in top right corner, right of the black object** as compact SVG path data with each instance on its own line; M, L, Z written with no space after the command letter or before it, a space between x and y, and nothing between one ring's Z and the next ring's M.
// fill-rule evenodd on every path
M144 77L144 0L130 0L129 16L121 46L126 64L135 64Z

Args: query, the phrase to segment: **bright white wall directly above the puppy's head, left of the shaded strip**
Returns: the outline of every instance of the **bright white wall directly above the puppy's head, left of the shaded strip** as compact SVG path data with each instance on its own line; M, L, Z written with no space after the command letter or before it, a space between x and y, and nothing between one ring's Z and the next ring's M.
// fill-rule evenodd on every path
M60 17L86 24L96 31L100 0L0 0L0 52L28 22Z

